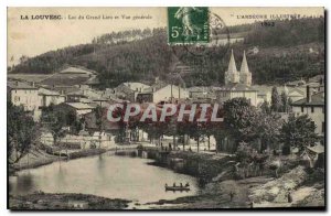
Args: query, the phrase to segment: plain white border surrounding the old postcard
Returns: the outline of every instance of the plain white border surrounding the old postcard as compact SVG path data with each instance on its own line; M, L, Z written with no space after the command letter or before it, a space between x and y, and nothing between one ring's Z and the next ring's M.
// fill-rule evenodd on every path
M168 6L205 6L205 7L325 7L325 9L330 10L331 9L331 1L330 0L263 0L263 1L257 1L257 0L203 0L203 1L197 1L197 0L167 0L167 1L161 1L161 0L145 0L142 1L137 1L137 0L120 0L117 2L109 2L109 0L2 0L0 1L0 34L1 34L1 50L0 50L0 56L1 56L1 76L0 76L0 112L3 119L2 123L0 123L0 155L1 155L1 162L0 162L0 173L2 173L3 177L1 177L1 199L0 199L0 212L1 215L6 214L12 214L9 210L7 210L7 151L6 151L6 97L7 97L7 7L168 7ZM330 11L329 11L330 12ZM328 30L330 30L330 21L328 23ZM328 31L329 32L329 31ZM328 33L329 35L329 33ZM329 37L328 37L329 40ZM328 54L329 54L329 48L328 48ZM327 62L330 63L330 54L328 55ZM327 72L325 72L327 73ZM330 75L328 76L328 84L330 83ZM330 91L328 91L328 101L330 101ZM329 110L328 110L329 112ZM330 114L328 114L330 117ZM328 118L328 134L330 136L330 119ZM328 150L330 150L330 145L328 144ZM330 151L328 151L327 155L330 155ZM330 173L330 164L328 165L328 172ZM328 187L330 188L330 177L328 181ZM328 190L329 191L329 190ZM327 196L329 193L327 193ZM327 201L330 201L330 197L328 196ZM330 207L330 202L328 202L327 206ZM161 212L160 212L161 213ZM188 212L188 213L166 213L166 214L171 214L171 215L179 215L179 214L192 214L193 212ZM318 213L309 213L309 215L317 215ZM47 213L39 213L39 215L46 215ZM53 214L64 214L64 215L70 215L70 214L81 214L81 213L64 213L64 212L58 212L58 213L53 213ZM96 213L87 213L84 215L93 215ZM104 213L105 214L105 213ZM117 215L119 213L106 213L106 214L111 214L111 215ZM129 214L129 213L126 213ZM137 213L136 213L137 214ZM138 213L141 214L141 213ZM142 213L146 214L146 213ZM164 212L162 213L164 214ZM205 213L200 213L200 214L205 214ZM217 214L232 214L232 215L243 215L247 213L243 212L237 212L237 213L217 213ZM300 213L295 213L295 212L281 212L281 213L258 213L258 212L253 212L248 214L282 214L282 215L291 215L291 214L305 214L305 212ZM122 213L121 213L122 215Z

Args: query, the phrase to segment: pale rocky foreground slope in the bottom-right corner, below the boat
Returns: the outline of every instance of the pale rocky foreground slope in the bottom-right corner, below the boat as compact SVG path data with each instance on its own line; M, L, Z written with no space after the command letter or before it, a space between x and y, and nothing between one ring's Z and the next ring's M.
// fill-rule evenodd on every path
M297 166L278 179L257 176L211 182L199 195L172 201L160 199L146 205L154 209L310 207L324 210L324 181L317 179L312 183L312 176L316 176L316 172L308 173L303 166Z

